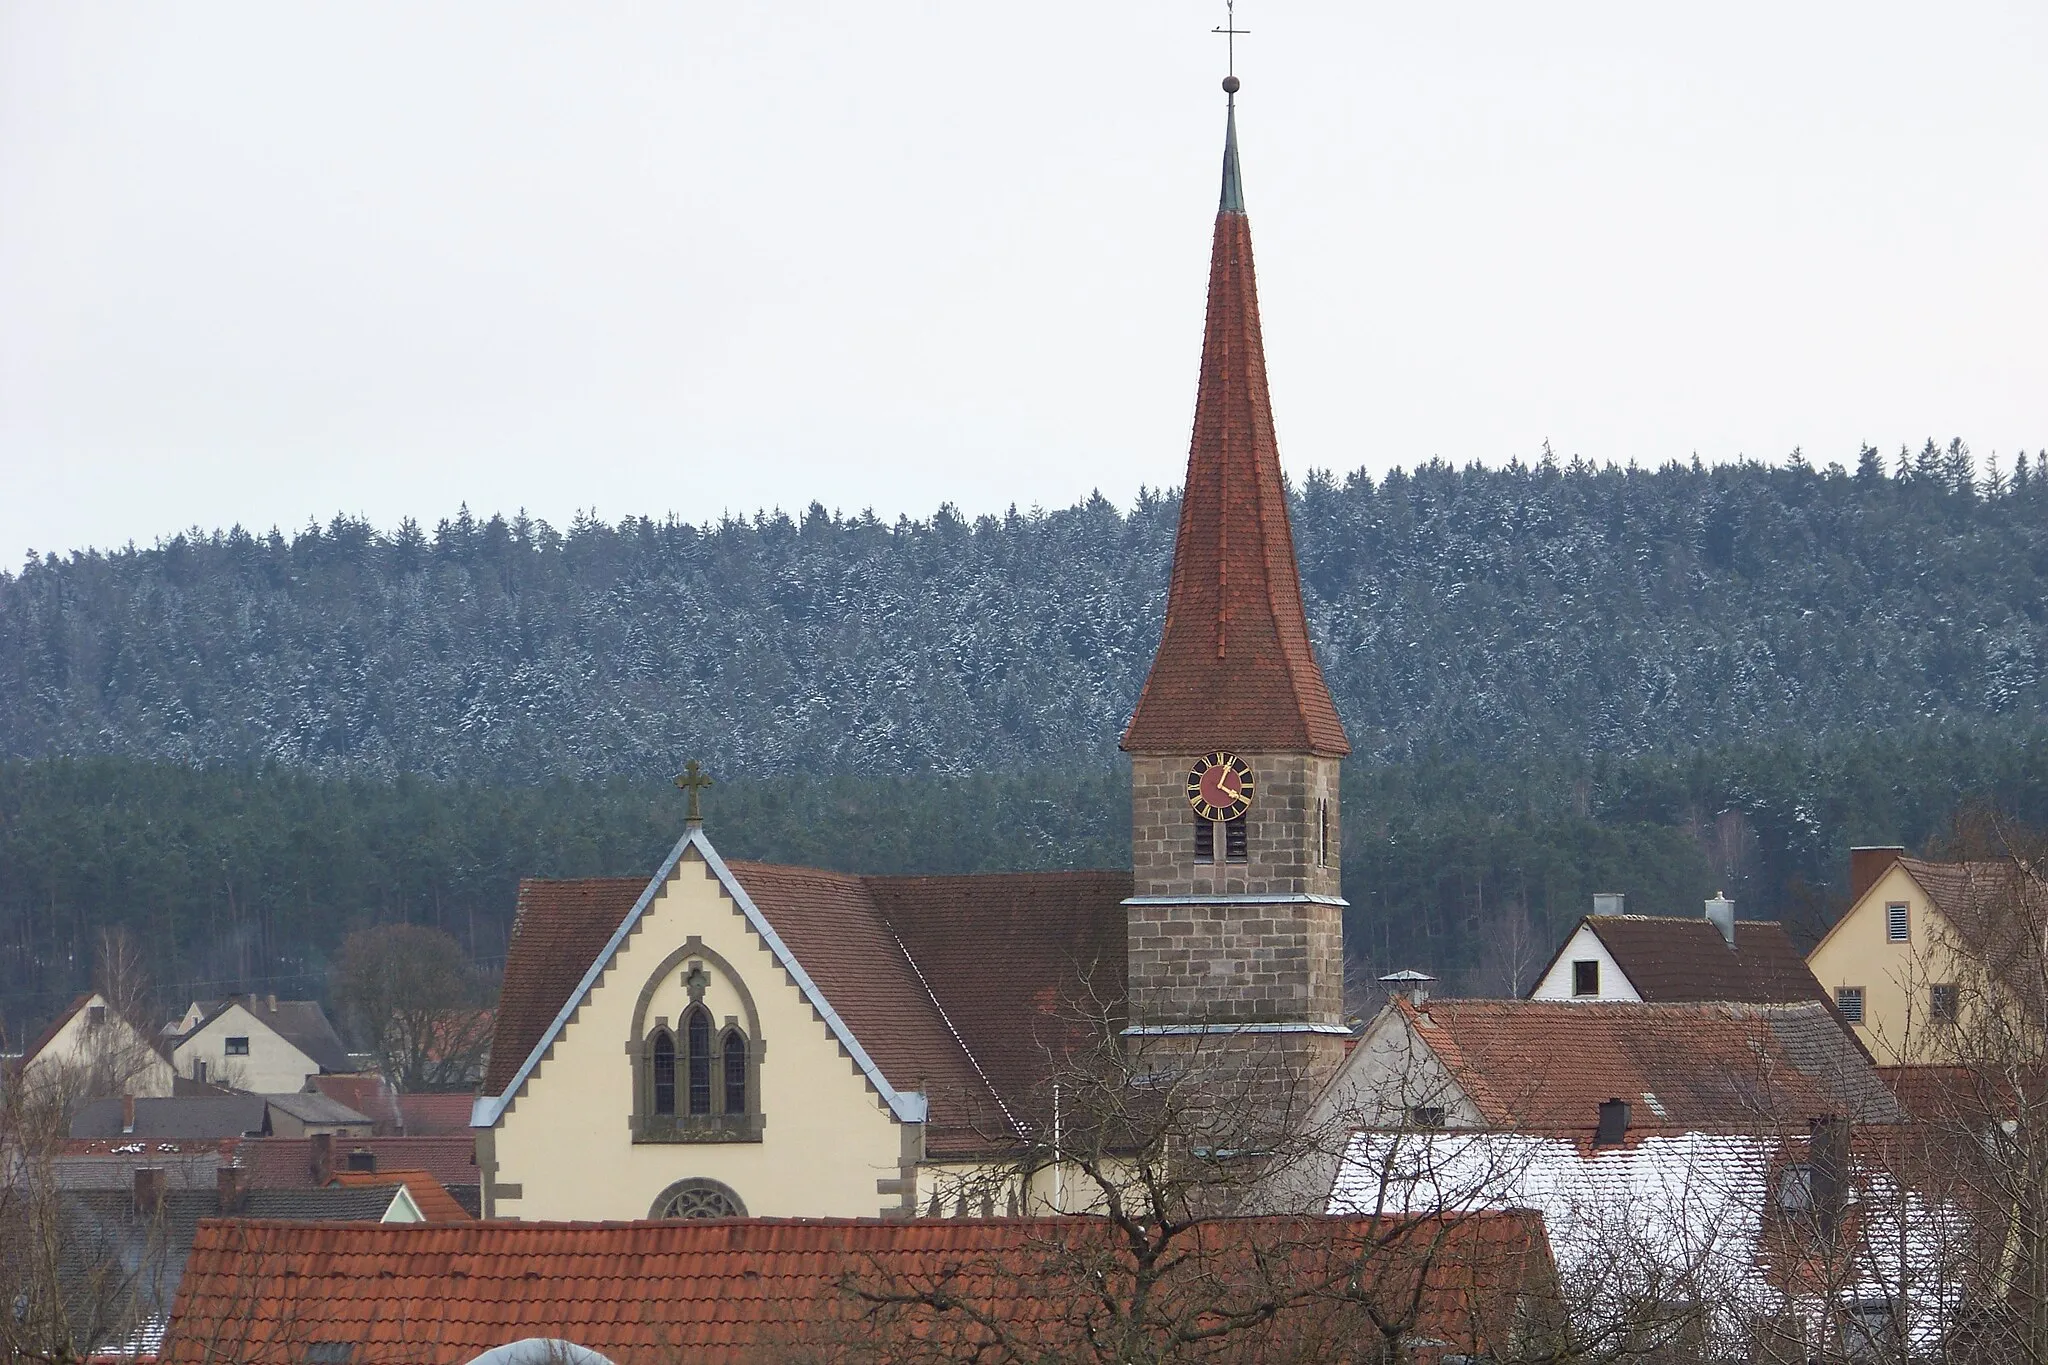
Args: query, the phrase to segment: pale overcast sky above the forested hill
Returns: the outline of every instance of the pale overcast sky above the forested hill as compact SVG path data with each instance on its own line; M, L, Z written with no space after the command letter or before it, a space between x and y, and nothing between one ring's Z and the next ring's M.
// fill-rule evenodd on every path
M1178 483L1221 8L0 0L0 567ZM2048 444L2048 4L1237 16L1296 475Z

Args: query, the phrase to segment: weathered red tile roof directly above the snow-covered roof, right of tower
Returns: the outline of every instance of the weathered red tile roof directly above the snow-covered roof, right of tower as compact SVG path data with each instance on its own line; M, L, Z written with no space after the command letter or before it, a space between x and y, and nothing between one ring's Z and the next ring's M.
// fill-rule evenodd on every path
M1823 1113L1898 1117L1870 1058L1817 1001L1440 999L1417 1009L1397 999L1393 1007L1493 1128L1591 1132L1608 1099L1628 1101L1630 1132L1804 1132Z

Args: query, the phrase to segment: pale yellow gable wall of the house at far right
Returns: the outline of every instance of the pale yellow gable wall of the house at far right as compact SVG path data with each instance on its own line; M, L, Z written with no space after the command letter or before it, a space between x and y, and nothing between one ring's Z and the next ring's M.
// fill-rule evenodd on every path
M1886 907L1907 902L1905 943L1886 939ZM1892 866L1806 956L1815 978L1835 993L1864 988L1855 1036L1882 1066L1946 1062L1946 1033L1927 1017L1927 988L1960 972L1946 943L1948 921L1905 868Z

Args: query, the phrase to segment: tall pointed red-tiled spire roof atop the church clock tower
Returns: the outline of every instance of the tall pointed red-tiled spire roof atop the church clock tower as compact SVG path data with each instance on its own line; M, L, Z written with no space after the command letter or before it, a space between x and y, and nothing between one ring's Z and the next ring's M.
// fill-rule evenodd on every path
M1122 747L1337 757L1352 745L1309 643L1239 186L1233 96L1165 630Z

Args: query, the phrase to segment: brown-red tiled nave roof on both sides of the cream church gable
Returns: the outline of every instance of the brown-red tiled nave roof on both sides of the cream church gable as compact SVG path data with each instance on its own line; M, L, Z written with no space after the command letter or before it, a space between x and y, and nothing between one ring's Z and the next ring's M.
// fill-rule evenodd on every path
M1087 1003L1122 999L1128 872L725 868L881 1076L926 1097L934 1152L1014 1136L1051 1058L1100 1036ZM520 1081L645 890L629 878L520 884L485 1095Z

